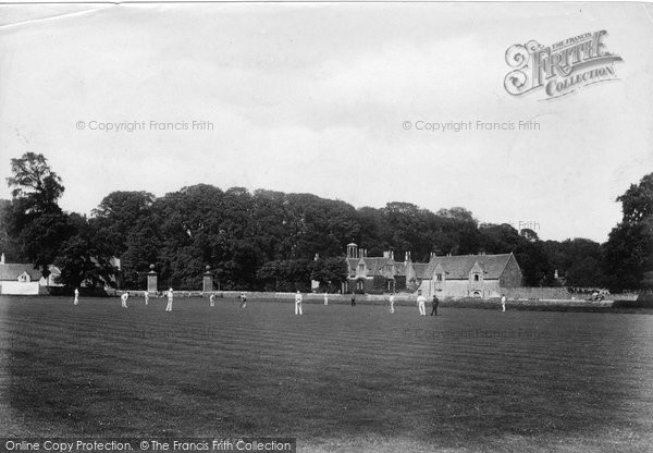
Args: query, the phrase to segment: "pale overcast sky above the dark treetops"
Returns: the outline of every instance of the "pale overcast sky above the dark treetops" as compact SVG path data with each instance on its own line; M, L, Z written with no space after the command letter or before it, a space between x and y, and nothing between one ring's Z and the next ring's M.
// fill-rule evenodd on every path
M604 242L615 198L653 171L652 16L636 3L0 5L0 176L35 151L78 212L113 191L209 183L463 206ZM512 45L600 29L618 81L547 101L504 89ZM540 130L415 128L479 120ZM121 122L146 127L89 130Z

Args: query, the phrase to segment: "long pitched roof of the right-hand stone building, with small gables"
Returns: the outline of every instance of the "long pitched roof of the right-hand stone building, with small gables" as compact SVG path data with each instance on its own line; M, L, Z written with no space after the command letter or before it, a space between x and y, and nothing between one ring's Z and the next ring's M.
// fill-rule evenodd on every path
M429 262L424 278L430 279L438 264L441 264L447 279L466 280L473 265L478 262L485 279L498 279L512 256L513 254L435 256Z

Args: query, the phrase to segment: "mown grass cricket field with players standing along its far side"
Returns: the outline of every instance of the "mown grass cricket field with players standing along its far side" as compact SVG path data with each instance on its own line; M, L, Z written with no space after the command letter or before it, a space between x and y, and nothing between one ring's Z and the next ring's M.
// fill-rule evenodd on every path
M0 297L0 431L653 451L653 316ZM430 310L430 307L429 307Z

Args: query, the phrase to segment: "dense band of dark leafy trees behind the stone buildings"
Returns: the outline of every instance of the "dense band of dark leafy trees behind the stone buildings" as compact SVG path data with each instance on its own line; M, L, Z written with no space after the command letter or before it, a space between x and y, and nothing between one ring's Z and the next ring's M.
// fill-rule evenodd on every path
M64 186L42 155L11 159L11 170L12 199L0 203L0 247L9 262L33 262L46 276L54 264L69 287L143 289L152 264L161 281L177 287L201 287L207 266L224 290L306 291L311 279L337 287L352 241L368 256L392 249L402 260L410 252L422 262L432 252L513 253L531 286L653 286L653 173L617 198L623 220L599 244L542 241L532 230L479 223L461 207L432 212L393 201L357 209L311 194L208 184L162 197L113 192L86 217L59 207ZM120 258L120 270L111 257Z

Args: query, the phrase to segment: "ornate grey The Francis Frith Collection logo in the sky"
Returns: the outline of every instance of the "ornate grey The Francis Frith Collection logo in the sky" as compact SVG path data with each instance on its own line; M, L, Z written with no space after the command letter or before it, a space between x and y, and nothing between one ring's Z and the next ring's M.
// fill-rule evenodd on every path
M569 95L582 87L617 79L615 63L621 57L607 51L602 29L564 39L551 46L535 40L506 51L513 69L504 78L506 91L522 96L543 90L544 99Z

